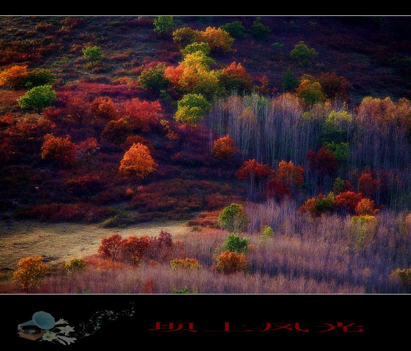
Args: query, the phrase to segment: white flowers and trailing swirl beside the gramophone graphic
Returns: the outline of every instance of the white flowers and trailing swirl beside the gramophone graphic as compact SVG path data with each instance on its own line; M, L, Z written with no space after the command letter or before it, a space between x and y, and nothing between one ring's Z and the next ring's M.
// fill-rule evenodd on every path
M44 335L38 340L40 342L49 341L52 343L59 342L63 345L69 345L78 341L79 339L89 337L95 334L105 321L116 321L119 317L131 317L135 313L135 303L129 302L128 308L113 311L104 310L96 311L88 321L80 322L71 327L68 321L60 319L55 322L54 327L44 330ZM20 326L17 327L19 331L23 331Z

